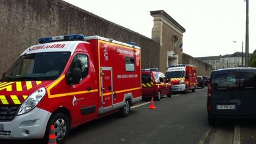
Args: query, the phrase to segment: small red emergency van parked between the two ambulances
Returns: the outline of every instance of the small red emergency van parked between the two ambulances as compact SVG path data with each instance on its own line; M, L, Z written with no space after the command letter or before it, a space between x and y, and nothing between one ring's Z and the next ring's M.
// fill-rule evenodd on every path
M142 98L160 100L162 95L171 97L171 83L157 68L142 69Z

